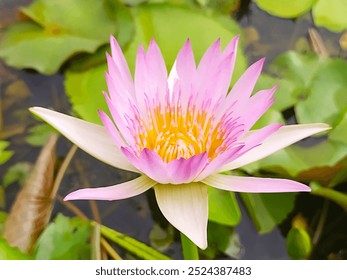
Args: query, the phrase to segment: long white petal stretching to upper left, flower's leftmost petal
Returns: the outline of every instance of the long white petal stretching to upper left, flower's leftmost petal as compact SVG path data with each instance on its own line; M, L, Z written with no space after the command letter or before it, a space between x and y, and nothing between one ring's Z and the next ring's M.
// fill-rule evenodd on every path
M93 157L120 169L139 172L128 162L103 126L45 108L33 107L30 111Z

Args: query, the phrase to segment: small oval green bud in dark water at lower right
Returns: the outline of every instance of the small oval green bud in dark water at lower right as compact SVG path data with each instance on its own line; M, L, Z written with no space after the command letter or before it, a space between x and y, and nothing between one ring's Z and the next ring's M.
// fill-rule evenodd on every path
M311 237L305 229L293 227L287 235L286 246L292 259L306 259L312 250Z

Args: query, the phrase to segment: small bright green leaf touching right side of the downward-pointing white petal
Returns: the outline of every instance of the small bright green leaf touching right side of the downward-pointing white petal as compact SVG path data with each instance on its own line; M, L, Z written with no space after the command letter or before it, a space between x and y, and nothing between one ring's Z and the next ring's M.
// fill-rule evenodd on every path
M241 220L240 208L232 192L209 188L208 210L208 219L222 225L235 226Z

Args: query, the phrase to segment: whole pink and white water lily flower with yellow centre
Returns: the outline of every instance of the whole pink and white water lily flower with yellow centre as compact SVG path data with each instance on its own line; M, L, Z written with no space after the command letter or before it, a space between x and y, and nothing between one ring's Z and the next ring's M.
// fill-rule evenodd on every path
M66 200L118 200L154 188L166 219L196 245L207 247L208 186L233 192L309 191L306 185L273 178L221 174L262 159L292 143L329 129L326 124L269 124L252 131L274 102L276 87L252 95L264 59L251 65L228 92L238 37L224 50L220 40L196 67L190 41L168 75L152 40L139 47L134 79L111 37L107 54L111 117L99 111L103 126L45 108L31 111L95 158L137 172L129 182L84 188Z

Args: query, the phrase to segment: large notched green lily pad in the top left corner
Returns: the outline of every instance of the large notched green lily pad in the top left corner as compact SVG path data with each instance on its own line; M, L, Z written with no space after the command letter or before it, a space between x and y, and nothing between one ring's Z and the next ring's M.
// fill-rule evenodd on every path
M105 1L37 0L22 12L33 22L9 26L0 57L17 68L53 74L72 55L94 52L116 30Z

